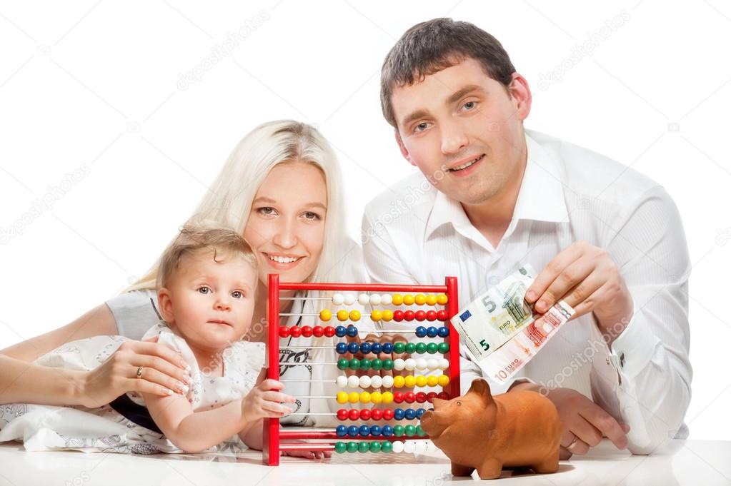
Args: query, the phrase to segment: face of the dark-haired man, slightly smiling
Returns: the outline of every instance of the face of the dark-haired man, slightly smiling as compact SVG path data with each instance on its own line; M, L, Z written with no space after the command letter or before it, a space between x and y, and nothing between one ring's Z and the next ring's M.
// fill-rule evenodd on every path
M466 58L393 90L401 152L456 201L480 204L520 177L531 96L525 80L513 78L508 94Z

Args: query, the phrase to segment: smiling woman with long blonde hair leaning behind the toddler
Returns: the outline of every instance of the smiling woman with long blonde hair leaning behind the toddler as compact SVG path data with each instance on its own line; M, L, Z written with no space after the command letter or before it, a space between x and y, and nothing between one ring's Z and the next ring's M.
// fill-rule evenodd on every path
M319 132L303 123L265 123L235 147L223 169L195 211L243 234L257 254L260 293L247 339L264 341L268 274L281 281L366 282L360 266L360 247L344 232L341 171L333 150ZM156 265L153 266L153 269ZM184 381L184 364L170 348L155 342L125 342L93 371L46 369L31 362L74 339L119 334L140 339L159 319L154 290L156 271L149 271L125 293L97 306L74 322L16 344L0 354L0 402L101 406L129 391L164 395ZM320 301L308 296L281 301L281 312L315 313ZM293 325L301 316L292 316ZM311 317L310 317L311 319ZM283 340L281 377L312 380L285 382L285 393L295 397L334 396L333 366L298 363L331 362L334 351L311 347L327 338ZM331 344L328 342L327 344ZM143 366L143 377L137 369ZM332 382L330 381L332 378ZM328 382L318 382L326 379ZM308 412L333 412L333 401L299 398L295 414L282 420L297 425L319 425L328 417ZM314 457L314 455L311 455Z

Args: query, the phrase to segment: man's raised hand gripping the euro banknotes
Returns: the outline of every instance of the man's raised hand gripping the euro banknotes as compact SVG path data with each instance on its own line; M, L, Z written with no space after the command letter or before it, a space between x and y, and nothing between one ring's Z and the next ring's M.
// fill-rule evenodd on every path
M594 312L599 331L611 342L624 330L634 312L632 296L607 250L575 242L558 253L526 292L526 302L544 313L563 299L576 311L572 319Z

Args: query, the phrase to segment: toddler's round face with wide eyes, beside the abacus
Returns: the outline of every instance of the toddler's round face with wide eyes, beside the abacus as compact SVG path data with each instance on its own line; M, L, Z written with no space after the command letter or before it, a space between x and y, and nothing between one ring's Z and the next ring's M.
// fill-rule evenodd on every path
M162 317L195 350L222 350L251 326L257 272L243 258L213 252L181 258L159 291Z

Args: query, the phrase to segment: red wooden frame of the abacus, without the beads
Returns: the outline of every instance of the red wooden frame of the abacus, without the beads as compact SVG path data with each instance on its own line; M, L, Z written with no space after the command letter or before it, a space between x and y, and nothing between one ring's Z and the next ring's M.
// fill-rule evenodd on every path
M279 282L279 274L269 274L269 295L268 295L268 372L269 379L279 380L279 292L281 290L331 290L351 292L409 292L409 293L444 293L447 295L447 304L444 309L447 311L447 320L444 325L448 326L449 336L444 338L449 342L450 361L450 396L460 396L460 366L459 366L459 334L452 326L451 319L459 309L457 294L457 277L445 277L444 285L393 285L393 284L357 284L357 283L290 283ZM335 397L333 396L333 400ZM279 428L278 418L264 419L264 441L262 445L262 461L268 466L279 466L279 439L286 436L287 439L329 439L329 433L317 433L307 431L284 431ZM313 444L312 450L317 450ZM331 449L331 447L330 447ZM330 450L328 449L328 450Z

